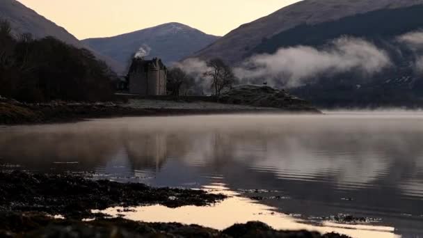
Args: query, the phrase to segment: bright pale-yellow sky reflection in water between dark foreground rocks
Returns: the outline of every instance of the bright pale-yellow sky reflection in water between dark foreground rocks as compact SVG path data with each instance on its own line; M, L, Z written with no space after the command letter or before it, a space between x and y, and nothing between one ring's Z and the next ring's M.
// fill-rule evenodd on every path
M186 206L171 209L161 205L133 207L130 212L122 212L122 207L113 207L103 212L111 216L123 216L125 219L145 222L177 222L184 224L204 225L209 228L224 230L234 223L262 221L278 230L311 230L321 233L338 232L351 237L399 237L394 235L394 228L378 225L342 225L337 223L321 223L308 225L280 212L273 212L273 207L254 203L248 198L239 196L225 187L225 184L212 184L203 189L215 193L225 193L227 200L210 207Z

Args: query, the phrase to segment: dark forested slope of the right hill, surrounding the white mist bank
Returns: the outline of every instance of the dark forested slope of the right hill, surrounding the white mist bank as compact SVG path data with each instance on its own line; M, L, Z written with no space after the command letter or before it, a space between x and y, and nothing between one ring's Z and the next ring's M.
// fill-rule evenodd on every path
M248 54L275 54L281 47L287 49L296 45L324 49L330 40L344 35L364 39L388 54L389 67L369 75L355 69L319 75L309 79L308 84L292 88L292 93L322 107L420 108L423 106L423 71L418 63L423 56L422 15L423 5L420 4L375 10L312 26L301 24L273 35ZM400 40L404 37L412 38L413 44ZM369 65L373 59L364 60Z

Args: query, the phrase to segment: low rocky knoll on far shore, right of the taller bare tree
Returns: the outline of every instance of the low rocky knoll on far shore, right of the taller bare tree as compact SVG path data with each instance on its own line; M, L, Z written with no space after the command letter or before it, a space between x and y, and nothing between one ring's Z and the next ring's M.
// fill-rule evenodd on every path
M286 90L269 86L234 86L221 95L220 102L272 107L285 111L319 113L309 102L290 95Z

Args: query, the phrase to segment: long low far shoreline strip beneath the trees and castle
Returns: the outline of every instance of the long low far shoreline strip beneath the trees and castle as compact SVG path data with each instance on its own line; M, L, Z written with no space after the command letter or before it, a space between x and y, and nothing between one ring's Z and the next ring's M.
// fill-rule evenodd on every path
M136 101L140 102L140 100ZM146 116L198 116L239 113L310 113L322 114L317 109L277 109L233 104L206 102L177 102L176 105L161 104L151 100L148 104L131 103L73 103L51 102L24 104L0 102L0 125L38 125L49 123L78 122L94 118L146 117Z

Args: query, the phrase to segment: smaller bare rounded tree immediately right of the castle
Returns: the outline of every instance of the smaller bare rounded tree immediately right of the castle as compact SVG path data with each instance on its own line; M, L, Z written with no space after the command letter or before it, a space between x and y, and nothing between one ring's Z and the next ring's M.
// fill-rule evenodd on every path
M168 71L167 83L168 90L172 92L172 95L179 96L183 89L186 94L186 91L193 86L194 79L180 68L171 68Z

